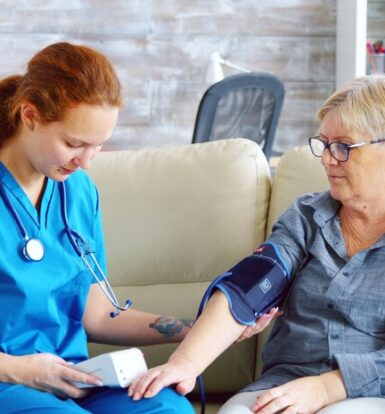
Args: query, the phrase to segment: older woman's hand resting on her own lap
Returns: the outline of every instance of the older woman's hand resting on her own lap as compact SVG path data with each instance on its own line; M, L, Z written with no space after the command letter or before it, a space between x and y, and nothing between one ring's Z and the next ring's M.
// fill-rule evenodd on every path
M346 398L338 370L289 381L258 395L253 413L314 414Z

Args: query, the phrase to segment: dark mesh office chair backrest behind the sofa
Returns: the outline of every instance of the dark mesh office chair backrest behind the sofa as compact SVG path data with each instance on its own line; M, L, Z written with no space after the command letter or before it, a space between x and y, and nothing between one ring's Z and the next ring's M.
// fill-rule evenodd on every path
M283 83L269 73L240 73L215 83L200 102L192 143L247 138L269 159L284 96Z

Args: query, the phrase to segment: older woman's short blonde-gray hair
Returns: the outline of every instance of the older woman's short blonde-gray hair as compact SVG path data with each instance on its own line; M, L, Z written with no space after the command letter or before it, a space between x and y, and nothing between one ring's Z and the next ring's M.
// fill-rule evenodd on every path
M385 76L363 76L338 89L319 108L318 121L336 110L344 127L371 138L385 136Z

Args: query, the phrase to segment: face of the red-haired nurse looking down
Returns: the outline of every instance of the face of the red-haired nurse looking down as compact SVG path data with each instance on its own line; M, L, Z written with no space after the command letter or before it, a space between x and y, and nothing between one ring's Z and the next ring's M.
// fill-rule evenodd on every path
M118 108L77 105L58 122L39 123L25 141L26 158L33 170L57 181L71 173L88 169L93 157L111 137Z

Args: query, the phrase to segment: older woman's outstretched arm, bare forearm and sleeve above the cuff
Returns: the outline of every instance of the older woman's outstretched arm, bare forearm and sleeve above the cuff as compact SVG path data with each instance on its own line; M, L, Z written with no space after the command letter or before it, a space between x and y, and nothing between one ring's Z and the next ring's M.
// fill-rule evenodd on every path
M290 226L287 226L290 223ZM306 256L305 233L302 219L297 211L286 213L273 229L272 241L287 264L289 273L295 273ZM261 317L253 333L261 332L272 319L279 316L277 309ZM186 394L192 390L196 377L238 338L250 336L245 326L233 318L227 299L217 291L209 300L204 312L195 322L168 362L149 370L132 383L129 395L134 399L151 397L163 387L176 384L177 390Z

